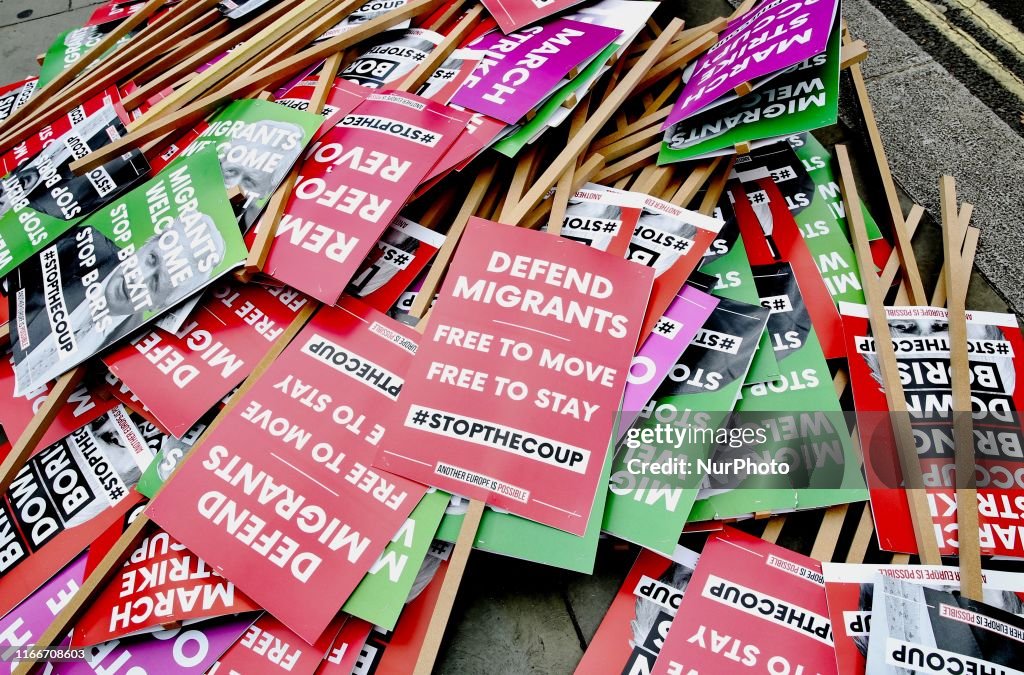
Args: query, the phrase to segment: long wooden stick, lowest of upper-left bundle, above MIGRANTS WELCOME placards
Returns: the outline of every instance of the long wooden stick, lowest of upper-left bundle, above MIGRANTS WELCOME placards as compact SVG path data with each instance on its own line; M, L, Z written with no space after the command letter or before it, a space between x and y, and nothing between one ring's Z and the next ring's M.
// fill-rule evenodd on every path
M429 11L440 0L412 0L397 9L372 18L330 40L317 43L304 51L267 68L265 71L232 80L230 83L217 87L214 92L189 103L181 110L171 115L152 120L144 127L129 132L113 143L108 143L99 150L86 155L81 160L72 162L71 169L76 173L81 173L101 166L111 159L128 152L131 147L160 138L175 129L180 129L196 122L204 115L217 110L226 100L237 98L240 94L247 92L259 91L269 83L279 82L303 68L324 60L334 52L341 51L352 44L361 42L408 18Z

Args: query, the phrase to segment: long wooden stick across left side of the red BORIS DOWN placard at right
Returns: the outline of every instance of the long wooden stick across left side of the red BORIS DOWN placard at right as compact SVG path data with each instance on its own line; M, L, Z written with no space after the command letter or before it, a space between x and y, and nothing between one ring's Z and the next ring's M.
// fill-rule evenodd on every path
M918 461L918 451L914 447L913 431L903 394L903 385L899 379L896 363L896 352L893 348L889 322L886 319L885 294L879 287L879 278L874 273L871 262L870 248L867 243L867 227L864 224L863 212L860 210L860 197L853 179L853 167L845 145L836 145L836 159L840 167L840 188L846 204L846 213L850 225L850 234L860 268L861 286L864 289L864 299L868 307L868 321L874 336L874 348L882 373L883 388L889 405L890 417L893 421L900 466L903 472L904 493L910 510L910 520L913 524L918 552L926 564L939 564L938 543L932 531L932 518L928 501L924 492L924 479L921 464ZM900 213L902 220L902 212Z

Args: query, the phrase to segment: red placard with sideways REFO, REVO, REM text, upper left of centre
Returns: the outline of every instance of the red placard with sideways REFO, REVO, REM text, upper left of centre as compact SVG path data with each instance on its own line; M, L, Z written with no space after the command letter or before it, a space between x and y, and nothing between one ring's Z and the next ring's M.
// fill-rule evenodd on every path
M328 304L468 117L401 92L372 94L310 144L264 271Z

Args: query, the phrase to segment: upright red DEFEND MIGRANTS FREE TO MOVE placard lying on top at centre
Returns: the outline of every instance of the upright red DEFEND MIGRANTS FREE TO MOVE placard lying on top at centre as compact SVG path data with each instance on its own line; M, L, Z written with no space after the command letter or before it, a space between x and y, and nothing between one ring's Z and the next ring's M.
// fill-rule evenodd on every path
M380 465L582 536L652 279L471 219Z

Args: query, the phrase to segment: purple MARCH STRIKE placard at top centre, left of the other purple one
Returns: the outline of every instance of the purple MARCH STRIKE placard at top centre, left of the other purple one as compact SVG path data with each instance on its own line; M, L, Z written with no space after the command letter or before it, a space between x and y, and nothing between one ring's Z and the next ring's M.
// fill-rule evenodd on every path
M469 44L487 55L452 102L515 124L534 110L573 68L622 34L618 29L559 18L512 35L488 33Z

